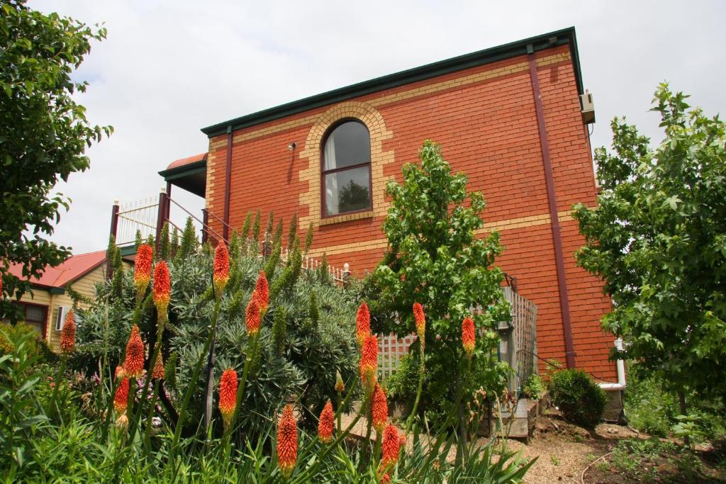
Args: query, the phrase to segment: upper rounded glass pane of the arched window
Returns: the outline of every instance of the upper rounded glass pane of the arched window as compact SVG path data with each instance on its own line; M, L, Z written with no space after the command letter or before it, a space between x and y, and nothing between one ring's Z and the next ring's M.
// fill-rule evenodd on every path
M368 128L348 121L333 130L325 141L325 171L370 162Z

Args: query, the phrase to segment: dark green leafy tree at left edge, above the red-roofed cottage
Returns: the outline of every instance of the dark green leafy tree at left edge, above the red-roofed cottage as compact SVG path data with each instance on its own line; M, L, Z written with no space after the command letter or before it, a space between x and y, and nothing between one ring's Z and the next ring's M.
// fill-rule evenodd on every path
M70 255L70 247L48 239L70 205L52 190L89 168L86 148L113 131L91 126L73 99L88 85L73 71L91 41L105 36L105 28L33 11L23 0L0 4L0 272L4 291L17 298L30 290L26 279ZM11 263L23 266L22 279L7 273ZM8 300L0 313L14 313Z

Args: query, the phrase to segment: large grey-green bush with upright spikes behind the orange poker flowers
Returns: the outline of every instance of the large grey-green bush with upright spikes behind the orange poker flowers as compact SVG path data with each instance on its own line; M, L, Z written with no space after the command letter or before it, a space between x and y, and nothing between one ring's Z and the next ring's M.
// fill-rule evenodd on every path
M263 264L269 265L273 258L280 261L279 249L278 244L274 253L277 257L268 261L256 255L233 257L230 261L230 274L237 275L234 283L230 277L221 299L219 321L224 323L219 324L216 333L216 379L228 367L242 374L249 351L244 308L260 270L266 267ZM211 281L213 253L192 247L186 250L189 255L168 263L171 303L168 328L163 335L163 348L176 353L176 386L179 388L189 385L214 306L213 298L205 296ZM299 253L299 249L293 250L282 271L277 268L279 262L274 262L276 270L271 270L271 274L277 276L269 281L270 303L261 324L260 356L254 365L256 374L248 382L242 401L246 411L240 416L240 422L245 430L260 432L266 425L266 416L274 414L280 402L295 395L305 409L302 422L312 426L327 399L335 398L335 371L330 372L330 369L339 369L346 380L357 374L354 298L338 287L322 284L312 271L301 274ZM83 311L83 324L78 327L78 358L72 362L75 369L94 372L105 355L111 367L121 361L136 303L131 271L124 275L122 286L122 298L113 297L110 288L104 287L99 303ZM106 304L107 296L110 299ZM316 299L317 324L307 325L304 321L314 316L311 300ZM275 332L277 314L282 315L285 327L281 331L280 322L277 322ZM145 341L154 339L154 321L153 305L142 306L139 328ZM189 405L190 426L196 425L203 413L204 389L205 382L200 379ZM218 430L221 431L221 427Z

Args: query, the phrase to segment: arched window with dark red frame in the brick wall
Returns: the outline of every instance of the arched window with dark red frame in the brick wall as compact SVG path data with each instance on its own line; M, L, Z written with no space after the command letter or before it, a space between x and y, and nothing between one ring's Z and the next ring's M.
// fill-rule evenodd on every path
M323 216L370 210L370 134L358 120L346 120L330 131L322 163Z

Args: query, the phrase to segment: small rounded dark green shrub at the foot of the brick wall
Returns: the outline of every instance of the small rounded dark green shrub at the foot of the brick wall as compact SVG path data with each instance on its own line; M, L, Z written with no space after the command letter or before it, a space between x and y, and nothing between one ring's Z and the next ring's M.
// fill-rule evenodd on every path
M579 369L567 369L552 374L550 380L552 403L562 411L568 422L595 428L605 410L605 391Z

